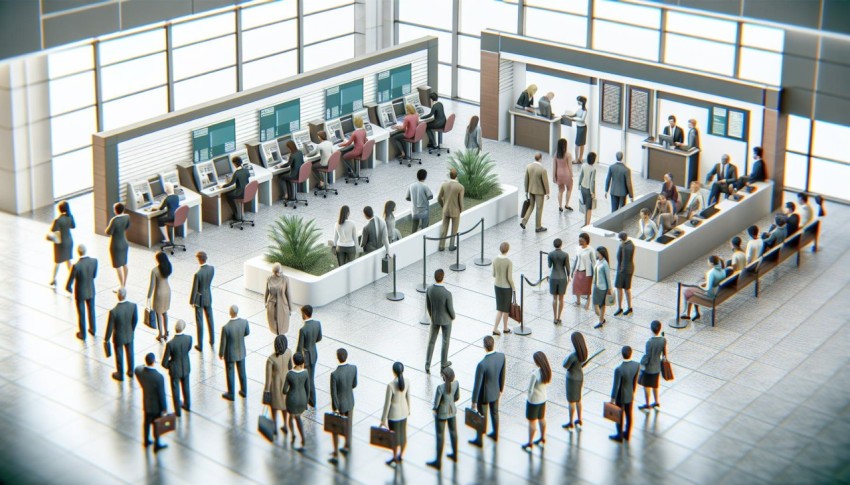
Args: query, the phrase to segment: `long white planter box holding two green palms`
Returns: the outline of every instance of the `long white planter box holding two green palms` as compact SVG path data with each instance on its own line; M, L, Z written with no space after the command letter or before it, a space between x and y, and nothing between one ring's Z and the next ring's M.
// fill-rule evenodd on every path
M408 213L409 211L399 212L396 217L400 219ZM519 191L514 186L502 184L502 194L467 209L461 214L460 231L463 232L474 226L481 218L484 218L486 229L514 218L517 214L519 214ZM439 223L434 224L390 244L390 252L396 255L398 269L420 262L422 259L422 236L439 237L440 227ZM461 240L472 237L479 237L479 232L476 230L461 236ZM437 244L437 241L429 241L427 254L436 252ZM470 254L471 245L465 245L464 248L464 253ZM381 259L383 257L384 252L378 250L361 256L351 263L322 276L313 276L286 267L283 268L283 272L289 276L289 292L293 302L298 305L323 306L385 276L381 272ZM264 293L266 280L271 275L271 268L271 263L265 260L263 254L246 261L244 265L245 288L257 293Z

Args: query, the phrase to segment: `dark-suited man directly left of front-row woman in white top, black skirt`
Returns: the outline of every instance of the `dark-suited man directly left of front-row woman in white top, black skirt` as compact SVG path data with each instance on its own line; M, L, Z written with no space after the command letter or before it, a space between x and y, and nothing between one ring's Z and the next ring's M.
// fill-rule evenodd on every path
M487 436L493 441L499 439L499 397L505 390L505 354L496 352L496 342L493 337L484 337L484 350L487 352L475 369L475 383L472 387L472 409L484 416L484 429L487 430L487 408L490 409L490 419L493 421L493 431ZM481 434L478 433L469 443L482 446Z

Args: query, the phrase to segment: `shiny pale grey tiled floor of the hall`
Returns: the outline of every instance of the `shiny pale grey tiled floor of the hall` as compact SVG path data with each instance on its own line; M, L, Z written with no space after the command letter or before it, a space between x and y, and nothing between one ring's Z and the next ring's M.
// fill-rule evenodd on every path
M459 119L473 108L456 105ZM462 130L447 137L459 146ZM506 183L522 180L523 166L532 151L506 143L485 142ZM425 157L434 189L444 178L441 159ZM340 201L353 208L366 203L383 205L387 198L403 201L404 187L415 169L397 164L381 166L370 175L371 184L342 185L339 197L316 199L297 213L315 217L330 228ZM599 174L604 180L605 169ZM655 187L636 177L638 194ZM311 201L314 200L311 196ZM99 335L105 313L114 304L110 291L115 279L108 260L108 240L92 233L91 197L73 202L78 229L75 239L98 256L97 306ZM400 204L404 206L404 204ZM573 199L573 206L577 206ZM594 216L607 213L602 201ZM406 298L384 298L390 280L377 283L317 310L325 338L319 345L317 387L319 409L308 412L307 451L299 454L288 444L270 445L256 432L262 412L260 395L264 363L272 336L264 321L261 296L242 288L241 262L265 245L263 226L275 215L288 212L276 206L258 215L259 227L236 231L207 226L202 237L188 240L189 252L173 258L175 271L173 318L192 320L186 303L194 262L203 249L216 266L214 307L218 328L226 309L236 303L250 319L247 339L249 398L235 404L223 401L223 369L212 352L192 353L193 412L179 420L170 444L159 455L140 446L141 392L135 382L110 378L113 361L103 356L100 340L86 344L74 338L75 311L71 298L46 285L51 249L44 241L50 211L34 218L0 214L0 482L3 483L847 483L850 481L850 208L830 205L824 220L821 251L806 252L797 268L786 262L765 278L758 299L751 292L735 297L718 312L715 328L705 322L684 330L667 328L676 380L662 383L664 408L659 413L635 411L633 439L627 446L609 442L613 426L601 417L602 402L610 392L618 349L631 345L639 359L649 336L649 322L669 323L674 317L677 281L694 281L704 269L705 255L659 283L634 282L635 314L608 318L604 330L592 329L592 312L568 307L564 325L551 324L547 294L526 292L528 337L497 339L508 356L507 389L502 399L502 431L498 444L483 450L465 443L471 437L460 430L460 461L441 474L427 468L433 457L434 432L429 401L439 384L423 371L427 327L420 325L423 297L414 290L421 265L400 272L400 291ZM358 212L357 209L354 212ZM358 212L359 216L359 212ZM358 219L359 217L355 217ZM542 235L522 232L509 221L486 233L488 257L498 243L511 243L511 257L519 273L536 279L537 253L548 250L560 237L575 241L581 226L577 213L559 215L547 202ZM766 222L766 221L765 221ZM472 245L470 245L472 246ZM572 251L572 247L569 249ZM726 248L719 249L728 255ZM471 247L464 248L462 273L448 272L458 318L451 343L451 360L466 406L480 341L489 334L494 300L489 267L472 264ZM429 258L428 267L446 267L454 254ZM153 253L133 247L130 252L130 298L143 304ZM65 277L64 270L60 278ZM297 323L297 322L296 322ZM291 343L298 325L290 330ZM591 351L605 351L585 369L584 430L569 434L560 428L566 420L564 373L560 362L571 352L569 335L585 334ZM194 325L189 333L195 333ZM360 371L356 391L355 443L350 458L338 468L326 462L330 438L322 432L320 417L329 409L328 376L334 350L350 352ZM143 326L137 331L136 361L147 352L160 355L162 345ZM531 354L542 350L553 364L549 388L549 430L545 451L529 456L519 445L526 441L525 389L532 370ZM439 350L437 350L439 352ZM406 365L413 410L409 419L409 446L398 470L383 465L388 452L370 447L368 428L377 424L391 364ZM170 399L169 399L170 406Z

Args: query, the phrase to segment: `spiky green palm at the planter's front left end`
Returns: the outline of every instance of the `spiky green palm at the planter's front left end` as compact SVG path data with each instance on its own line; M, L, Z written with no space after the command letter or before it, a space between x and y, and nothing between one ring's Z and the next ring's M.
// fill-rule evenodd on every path
M327 248L319 244L322 233L316 221L300 216L281 216L269 229L270 244L266 261L301 271L309 271L324 256Z

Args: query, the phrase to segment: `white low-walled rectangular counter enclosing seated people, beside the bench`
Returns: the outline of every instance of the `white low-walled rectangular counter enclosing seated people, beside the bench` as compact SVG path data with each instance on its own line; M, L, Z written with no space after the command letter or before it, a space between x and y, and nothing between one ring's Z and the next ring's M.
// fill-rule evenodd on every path
M667 244L638 240L637 234L627 229L629 238L635 244L634 274L652 281L661 281L695 260L702 259L721 245L728 244L732 236L770 215L773 182L757 182L753 186L756 190L751 194L739 192L743 199L738 202L721 199L715 205L719 212L702 220L697 227L680 221L667 235L676 230L682 234ZM679 193L687 196L684 189L680 188ZM617 247L620 244L617 233L624 227L633 225L641 208L651 210L657 196L657 193L644 194L633 203L582 229L590 234L591 245L608 248L612 269L616 265Z

